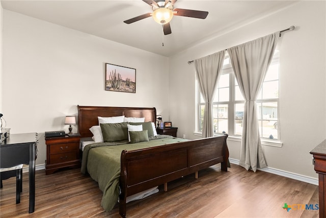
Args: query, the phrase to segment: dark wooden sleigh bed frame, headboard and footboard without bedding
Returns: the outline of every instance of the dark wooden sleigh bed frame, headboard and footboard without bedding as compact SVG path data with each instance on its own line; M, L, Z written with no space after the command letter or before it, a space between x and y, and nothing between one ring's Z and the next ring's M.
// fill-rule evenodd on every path
M98 116L145 117L145 122L156 121L155 108L78 106L78 130L81 137L92 137L89 130L98 125ZM157 185L167 183L217 163L227 171L228 135L188 140L157 147L123 150L120 158L119 212L126 216L126 198ZM84 157L83 157L84 158ZM149 164L150 163L150 164Z

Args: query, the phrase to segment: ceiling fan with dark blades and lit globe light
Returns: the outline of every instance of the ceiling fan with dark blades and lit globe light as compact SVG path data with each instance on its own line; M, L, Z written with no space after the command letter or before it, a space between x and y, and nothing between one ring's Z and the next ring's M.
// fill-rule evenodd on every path
M148 5L152 6L153 12L146 13L131 19L125 20L123 22L130 24L141 19L152 16L154 20L163 26L164 35L171 34L170 21L173 15L184 16L184 17L194 17L205 19L208 15L207 11L196 11L189 9L174 8L174 4L177 0L142 0Z

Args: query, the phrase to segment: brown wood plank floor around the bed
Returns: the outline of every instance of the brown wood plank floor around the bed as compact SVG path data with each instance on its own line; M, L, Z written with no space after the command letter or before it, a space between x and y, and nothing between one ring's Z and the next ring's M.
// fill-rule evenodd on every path
M318 210L283 209L284 203L318 204L318 186L231 164L220 164L168 184L146 199L127 204L127 217L318 217ZM105 212L97 183L79 169L51 175L36 172L35 212L29 214L28 174L23 174L20 204L16 180L3 181L0 216L5 217L119 217L119 207ZM296 209L296 210L295 210Z

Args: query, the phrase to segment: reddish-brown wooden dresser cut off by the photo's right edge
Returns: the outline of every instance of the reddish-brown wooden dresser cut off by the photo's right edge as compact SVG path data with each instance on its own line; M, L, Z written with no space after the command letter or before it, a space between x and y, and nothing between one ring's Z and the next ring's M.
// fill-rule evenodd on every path
M313 155L315 171L318 173L319 217L326 215L326 139L323 140L310 154Z

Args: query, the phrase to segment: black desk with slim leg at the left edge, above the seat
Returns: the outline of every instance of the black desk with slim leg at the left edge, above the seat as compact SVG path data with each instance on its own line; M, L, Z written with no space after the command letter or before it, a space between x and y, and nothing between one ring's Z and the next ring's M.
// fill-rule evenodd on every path
M30 209L35 209L35 159L37 156L37 133L10 134L0 146L2 168L29 164Z

